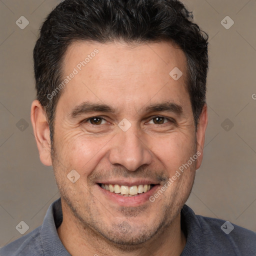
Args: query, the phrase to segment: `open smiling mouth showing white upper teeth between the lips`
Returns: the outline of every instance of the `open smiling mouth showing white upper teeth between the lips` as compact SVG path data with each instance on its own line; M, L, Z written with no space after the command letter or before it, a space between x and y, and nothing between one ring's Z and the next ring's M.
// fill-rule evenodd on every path
M121 185L97 183L101 188L124 197L138 196L151 190L155 184Z

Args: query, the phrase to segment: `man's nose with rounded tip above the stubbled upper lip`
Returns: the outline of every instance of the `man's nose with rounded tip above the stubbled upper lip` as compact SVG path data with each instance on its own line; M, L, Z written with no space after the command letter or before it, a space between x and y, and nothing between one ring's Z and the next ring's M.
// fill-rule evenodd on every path
M146 145L145 139L130 127L127 131L120 130L114 137L109 153L111 164L121 164L130 171L136 170L152 161L152 153Z

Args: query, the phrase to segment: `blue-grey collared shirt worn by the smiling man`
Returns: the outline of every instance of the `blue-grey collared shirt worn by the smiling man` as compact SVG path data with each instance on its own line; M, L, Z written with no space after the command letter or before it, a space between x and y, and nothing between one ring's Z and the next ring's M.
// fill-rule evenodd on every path
M71 256L57 234L61 221L59 198L49 206L41 226L1 248L0 256ZM181 210L181 228L186 245L180 256L256 256L255 232L195 215L187 205Z

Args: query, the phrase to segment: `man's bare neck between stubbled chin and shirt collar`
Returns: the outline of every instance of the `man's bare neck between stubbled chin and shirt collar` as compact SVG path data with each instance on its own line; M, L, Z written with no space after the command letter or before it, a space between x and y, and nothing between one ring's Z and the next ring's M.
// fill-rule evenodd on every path
M159 230L157 235L136 247L113 244L90 227L83 228L62 201L63 221L57 229L58 236L72 256L179 256L185 246L186 238L180 228L180 214L170 225Z

